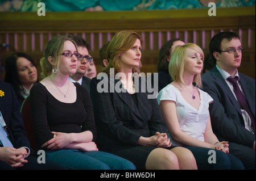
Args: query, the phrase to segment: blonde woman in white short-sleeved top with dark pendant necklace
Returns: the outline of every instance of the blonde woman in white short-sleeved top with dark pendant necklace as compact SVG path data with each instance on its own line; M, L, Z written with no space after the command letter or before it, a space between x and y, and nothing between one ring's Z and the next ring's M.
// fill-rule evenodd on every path
M158 94L172 145L191 150L199 169L244 169L240 159L229 154L228 142L219 142L212 131L208 108L213 99L197 88L203 61L203 50L196 44L185 44L172 53L169 72L174 81ZM211 150L216 157L210 157Z

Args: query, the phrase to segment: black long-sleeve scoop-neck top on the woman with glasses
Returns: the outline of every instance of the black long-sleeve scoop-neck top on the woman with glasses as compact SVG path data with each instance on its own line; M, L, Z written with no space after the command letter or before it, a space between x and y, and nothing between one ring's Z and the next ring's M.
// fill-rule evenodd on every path
M30 91L30 115L36 140L36 148L42 149L53 138L52 131L80 133L91 131L96 140L92 101L85 87L75 83L77 99L74 103L63 103L54 98L41 83Z

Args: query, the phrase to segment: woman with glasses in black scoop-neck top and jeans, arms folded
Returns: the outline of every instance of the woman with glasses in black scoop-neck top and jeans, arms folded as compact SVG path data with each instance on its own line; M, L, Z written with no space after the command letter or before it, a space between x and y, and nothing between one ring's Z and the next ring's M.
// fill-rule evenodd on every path
M36 148L68 169L135 169L133 163L98 151L96 125L85 87L68 77L77 70L75 41L56 36L45 49L42 81L30 93L30 113Z

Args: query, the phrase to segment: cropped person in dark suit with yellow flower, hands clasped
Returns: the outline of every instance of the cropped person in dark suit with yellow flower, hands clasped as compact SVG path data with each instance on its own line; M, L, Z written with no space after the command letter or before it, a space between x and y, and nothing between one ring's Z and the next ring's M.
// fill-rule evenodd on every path
M26 137L19 108L20 104L13 87L0 81L0 170L65 169L47 160L46 163L38 163Z

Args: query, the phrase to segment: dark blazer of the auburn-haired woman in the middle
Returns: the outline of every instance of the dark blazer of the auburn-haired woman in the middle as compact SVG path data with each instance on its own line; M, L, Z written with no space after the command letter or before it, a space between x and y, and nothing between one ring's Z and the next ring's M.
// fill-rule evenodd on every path
M113 78L114 79L114 78ZM166 133L167 128L162 119L156 99L148 99L147 92L141 92L141 79L135 84L137 105L131 95L122 87L119 79L106 78L90 82L90 95L98 130L97 142L102 150L110 151L115 146L137 145L139 137L150 137L156 132ZM102 83L105 85L102 85ZM110 83L111 82L111 83ZM122 92L110 92L110 85L119 86ZM108 86L107 92L99 87ZM106 88L106 87L105 87Z

